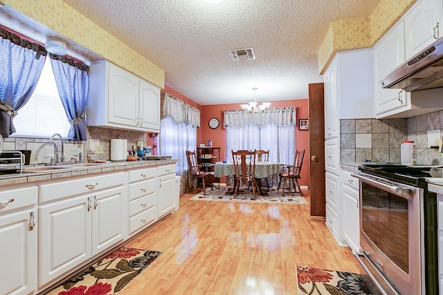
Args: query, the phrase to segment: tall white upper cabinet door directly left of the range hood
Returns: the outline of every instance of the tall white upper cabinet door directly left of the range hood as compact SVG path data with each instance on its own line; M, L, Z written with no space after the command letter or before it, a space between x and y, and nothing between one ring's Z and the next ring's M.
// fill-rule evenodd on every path
M379 79L399 66L405 59L404 23L400 22L374 47L375 113L383 114L408 106L410 97L400 89L385 89Z

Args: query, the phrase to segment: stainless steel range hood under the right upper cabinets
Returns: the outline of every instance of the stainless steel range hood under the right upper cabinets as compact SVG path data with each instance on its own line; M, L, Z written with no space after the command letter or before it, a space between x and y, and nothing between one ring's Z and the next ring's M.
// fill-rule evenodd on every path
M411 57L380 80L383 88L421 91L443 88L443 38Z

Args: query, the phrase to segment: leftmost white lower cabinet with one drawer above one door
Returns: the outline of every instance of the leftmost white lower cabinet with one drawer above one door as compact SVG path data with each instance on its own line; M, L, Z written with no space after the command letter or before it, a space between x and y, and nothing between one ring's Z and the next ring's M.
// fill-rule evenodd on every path
M0 294L37 289L37 187L0 191Z

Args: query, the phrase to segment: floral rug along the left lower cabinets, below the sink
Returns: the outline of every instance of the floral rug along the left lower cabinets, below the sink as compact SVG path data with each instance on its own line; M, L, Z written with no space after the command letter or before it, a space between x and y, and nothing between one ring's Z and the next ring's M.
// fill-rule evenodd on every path
M47 294L117 294L160 255L159 251L120 247Z

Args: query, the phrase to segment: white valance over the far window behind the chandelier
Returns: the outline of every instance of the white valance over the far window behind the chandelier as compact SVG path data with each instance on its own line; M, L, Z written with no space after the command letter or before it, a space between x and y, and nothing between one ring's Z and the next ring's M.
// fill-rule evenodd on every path
M296 107L288 108L268 108L263 115L253 113L250 115L244 110L224 111L223 126L243 127L246 125L265 126L275 124L277 126L287 126L297 124Z

